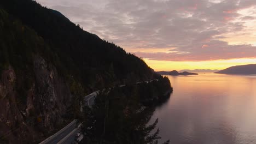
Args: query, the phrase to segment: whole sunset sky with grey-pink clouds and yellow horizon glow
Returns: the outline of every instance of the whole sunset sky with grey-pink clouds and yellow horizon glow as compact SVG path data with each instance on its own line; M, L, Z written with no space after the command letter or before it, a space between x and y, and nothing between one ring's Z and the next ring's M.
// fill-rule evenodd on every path
M255 0L37 0L154 70L256 63Z

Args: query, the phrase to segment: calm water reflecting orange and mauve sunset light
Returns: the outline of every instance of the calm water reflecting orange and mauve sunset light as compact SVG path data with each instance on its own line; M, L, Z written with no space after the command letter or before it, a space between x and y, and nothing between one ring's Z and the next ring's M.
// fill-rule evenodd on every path
M174 91L151 120L159 118L160 142L256 143L256 76L168 78Z

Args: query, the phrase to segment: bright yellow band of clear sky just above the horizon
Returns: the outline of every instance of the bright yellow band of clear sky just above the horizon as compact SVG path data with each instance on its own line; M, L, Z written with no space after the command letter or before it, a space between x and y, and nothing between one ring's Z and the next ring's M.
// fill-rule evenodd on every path
M256 64L256 58L240 58L202 62L155 61L144 58L144 61L155 71L182 69L225 69L235 65Z

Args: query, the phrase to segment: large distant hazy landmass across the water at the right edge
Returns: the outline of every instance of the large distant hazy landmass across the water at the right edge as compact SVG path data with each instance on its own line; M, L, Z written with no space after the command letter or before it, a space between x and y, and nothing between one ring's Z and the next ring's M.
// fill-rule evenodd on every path
M217 74L255 75L256 64L237 65L216 72Z

